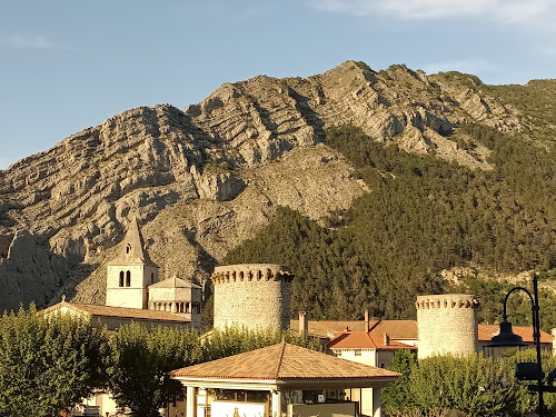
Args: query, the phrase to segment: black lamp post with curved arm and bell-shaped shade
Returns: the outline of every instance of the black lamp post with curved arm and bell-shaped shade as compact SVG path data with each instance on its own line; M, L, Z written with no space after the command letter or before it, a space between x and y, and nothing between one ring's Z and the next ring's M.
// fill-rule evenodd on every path
M506 298L504 299L504 316L503 316L503 321L500 322L500 332L496 336L494 336L490 339L490 345L487 345L487 347L520 347L520 346L527 346L526 342L523 341L522 337L514 334L512 330L512 324L507 319L506 315L506 304L508 301L508 297L515 292L515 291L525 291L530 299L532 302L532 311L533 311L533 340L535 341L536 348L537 348L537 364L536 364L536 369L527 369L529 370L527 374L524 376L524 379L534 379L534 378L527 378L527 376L536 376L537 379L537 387L536 390L538 390L538 416L543 417L544 416L544 400L543 400L543 366L540 363L540 321L538 318L538 276L536 274L536 270L533 270L533 295L529 292L524 287L515 287L512 288L508 294L506 294ZM517 364L518 369L519 365L525 365L525 364ZM524 368L522 368L524 369ZM533 370L533 371L532 371ZM517 373L516 373L516 376Z

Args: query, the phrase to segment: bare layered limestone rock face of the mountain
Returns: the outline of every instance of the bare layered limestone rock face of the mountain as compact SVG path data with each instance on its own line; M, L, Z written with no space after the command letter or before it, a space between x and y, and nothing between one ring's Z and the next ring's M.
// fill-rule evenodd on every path
M470 153L443 132L464 120L522 129L515 110L459 83L361 67L226 83L183 111L131 109L0 171L0 286L17 302L44 304L57 289L102 302L103 265L131 216L163 279L208 275L277 205L315 219L347 208L368 190L341 156L317 146L330 126L480 169L490 168L486 148ZM2 255L18 230L34 236L31 264L49 272L17 272L27 262L20 237Z

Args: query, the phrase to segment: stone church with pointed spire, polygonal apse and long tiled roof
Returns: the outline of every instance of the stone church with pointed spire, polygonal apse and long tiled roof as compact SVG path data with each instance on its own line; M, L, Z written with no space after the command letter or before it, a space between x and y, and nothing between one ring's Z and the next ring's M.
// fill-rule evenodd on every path
M159 280L159 267L149 258L133 218L120 252L107 266L106 305L87 305L62 301L43 310L71 312L98 320L113 330L131 321L150 328L202 328L201 287L178 277Z

